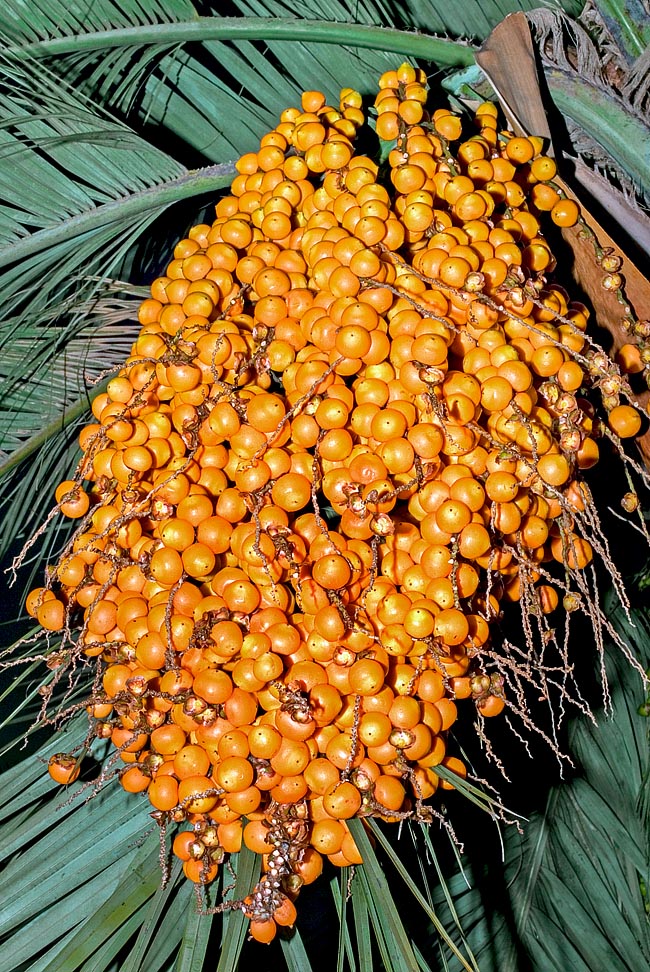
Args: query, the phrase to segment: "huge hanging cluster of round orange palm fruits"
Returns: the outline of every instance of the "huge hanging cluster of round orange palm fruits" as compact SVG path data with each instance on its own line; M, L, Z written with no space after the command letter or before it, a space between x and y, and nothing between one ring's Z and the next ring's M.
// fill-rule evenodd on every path
M94 660L102 779L180 825L187 877L262 855L238 903L260 941L324 857L361 862L351 818L431 819L465 774L459 713L527 721L560 599L607 625L584 471L603 437L638 471L626 381L552 276L544 225L580 218L555 163L491 104L464 134L426 103L421 71L380 79L385 173L350 88L307 92L239 159L93 402L56 492L78 529L27 600L61 658ZM511 601L518 660L491 640Z

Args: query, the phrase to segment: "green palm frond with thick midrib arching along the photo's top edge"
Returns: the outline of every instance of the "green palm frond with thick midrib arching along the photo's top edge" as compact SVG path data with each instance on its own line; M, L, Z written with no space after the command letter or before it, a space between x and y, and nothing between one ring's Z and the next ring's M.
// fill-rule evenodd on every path
M6 26L0 14L0 36L13 57L47 59L112 110L135 112L152 131L164 126L209 160L254 148L304 88L318 86L333 97L351 72L369 91L396 54L452 65L472 59L468 45L428 33L337 22L324 11L319 19L297 20L274 4L241 4L250 16L240 17L198 17L188 5L170 4L152 22L138 20L139 8L127 6L127 15L124 4L104 0L111 27L93 29L93 22L83 33L53 25L42 6L39 31L34 11Z

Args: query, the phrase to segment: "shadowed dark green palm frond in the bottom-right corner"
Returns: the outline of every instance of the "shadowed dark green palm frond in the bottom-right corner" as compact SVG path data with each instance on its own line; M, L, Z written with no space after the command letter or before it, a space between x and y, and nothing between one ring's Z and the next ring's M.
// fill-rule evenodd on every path
M622 611L613 613L647 665L644 616L636 612L631 627ZM643 688L617 651L608 649L607 668L611 716L598 725L576 721L569 734L575 778L551 789L522 833L508 828L503 868L497 862L484 874L470 868L448 879L481 972L593 972L605 964L632 972L650 962L642 895L650 848L639 802L649 764L647 723L637 711ZM444 913L441 891L434 900Z

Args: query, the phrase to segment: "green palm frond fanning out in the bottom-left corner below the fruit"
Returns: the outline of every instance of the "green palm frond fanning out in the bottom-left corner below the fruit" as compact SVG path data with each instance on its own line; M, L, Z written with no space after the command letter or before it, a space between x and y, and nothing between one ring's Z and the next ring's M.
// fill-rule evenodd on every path
M83 737L84 720L78 718L0 774L0 809L10 820L0 851L0 890L7 901L12 898L0 918L0 943L9 937L12 943L0 948L0 972L60 972L62 963L69 972L109 972L118 955L122 972L163 972L172 965L190 972L203 967L217 921L223 935L219 972L235 972L243 915L199 914L178 862L161 885L158 828L146 806L113 786L84 801L92 787L62 792L44 773L52 753L73 750ZM233 860L227 897L244 897L258 866L244 848ZM21 894L11 895L19 876ZM164 934L158 934L161 923Z

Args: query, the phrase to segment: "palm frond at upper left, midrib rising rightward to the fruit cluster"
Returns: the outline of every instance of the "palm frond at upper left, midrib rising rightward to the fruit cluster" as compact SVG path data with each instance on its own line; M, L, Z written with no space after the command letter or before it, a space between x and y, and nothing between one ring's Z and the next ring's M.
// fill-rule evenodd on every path
M190 173L33 61L3 66L0 448L11 453L123 358L128 328L112 321L102 338L88 316L101 281L173 202L220 188L231 169Z

